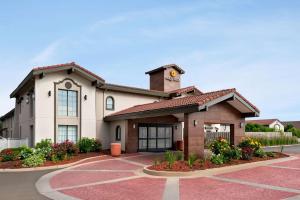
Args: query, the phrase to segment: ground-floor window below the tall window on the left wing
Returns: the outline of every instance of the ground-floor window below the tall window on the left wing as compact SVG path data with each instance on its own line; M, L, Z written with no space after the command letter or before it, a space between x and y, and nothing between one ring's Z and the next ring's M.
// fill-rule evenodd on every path
M70 142L77 142L77 126L74 125L58 125L57 143L69 140Z

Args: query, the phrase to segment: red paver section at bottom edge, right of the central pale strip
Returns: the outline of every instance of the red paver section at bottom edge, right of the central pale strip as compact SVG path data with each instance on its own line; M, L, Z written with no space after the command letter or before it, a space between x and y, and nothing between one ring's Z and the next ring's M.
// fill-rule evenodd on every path
M181 200L277 200L295 196L294 193L256 188L210 178L180 180Z

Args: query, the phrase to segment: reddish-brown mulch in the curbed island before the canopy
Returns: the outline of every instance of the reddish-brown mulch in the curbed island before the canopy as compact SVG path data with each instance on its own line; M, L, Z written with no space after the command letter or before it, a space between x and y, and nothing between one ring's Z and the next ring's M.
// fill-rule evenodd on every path
M265 160L272 160L272 159L278 159L284 157L289 157L289 156L283 153L274 152L274 157L265 157L265 158L253 157L251 160L231 160L230 162L222 165L214 164L210 160L206 160L202 162L200 160L197 160L192 167L189 167L186 161L176 161L171 167L169 167L168 163L164 161L157 165L152 165L148 167L148 169L156 170L156 171L188 172L188 171L205 170L205 169L219 168L219 167L239 165L245 163L259 162Z

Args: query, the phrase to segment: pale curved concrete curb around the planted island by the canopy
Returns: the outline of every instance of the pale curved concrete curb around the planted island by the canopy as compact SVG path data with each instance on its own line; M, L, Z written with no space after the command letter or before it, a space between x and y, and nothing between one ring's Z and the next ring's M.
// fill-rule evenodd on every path
M252 162L252 163L245 163L245 164L239 164L239 165L232 165L232 166L226 166L226 167L219 167L219 168L213 168L213 169L206 169L206 170L197 170L197 171L190 171L190 172L170 172L170 171L155 171L150 170L147 167L144 168L143 172L145 174L151 175L151 176L159 176L159 177L203 177L203 176L213 176L223 173L229 173L234 171L239 171L243 169L250 169L254 167L260 167L260 166L266 166L274 163L279 162L285 162L290 160L296 160L298 159L295 156L290 156L286 158L278 158L273 160L266 160L266 161L258 161L258 162Z

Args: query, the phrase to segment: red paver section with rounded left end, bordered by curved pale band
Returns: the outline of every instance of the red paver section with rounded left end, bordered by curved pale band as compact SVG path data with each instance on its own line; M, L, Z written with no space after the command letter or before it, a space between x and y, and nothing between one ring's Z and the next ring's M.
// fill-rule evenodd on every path
M54 176L50 181L50 185L56 189L131 177L134 175L133 172L64 171Z

